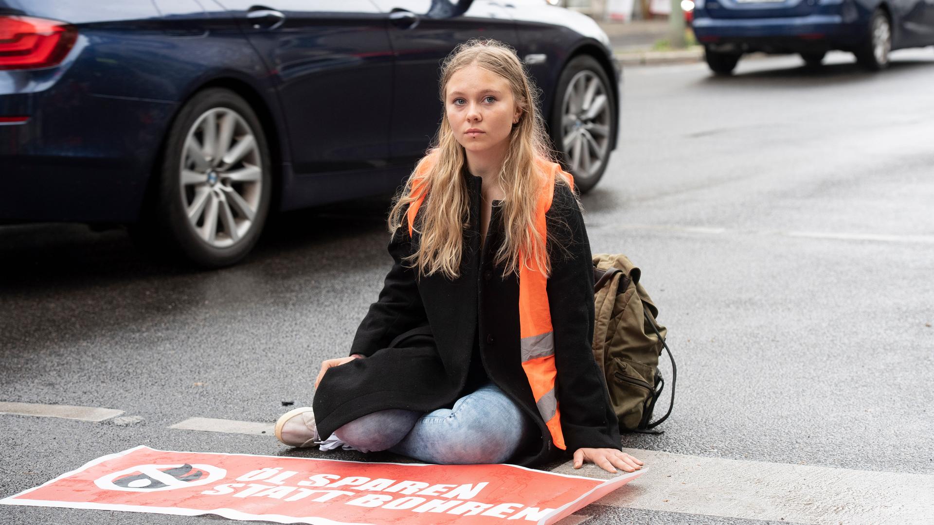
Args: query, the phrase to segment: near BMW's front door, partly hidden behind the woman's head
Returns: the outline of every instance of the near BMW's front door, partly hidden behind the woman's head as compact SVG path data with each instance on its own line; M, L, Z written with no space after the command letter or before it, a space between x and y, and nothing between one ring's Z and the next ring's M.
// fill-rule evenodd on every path
M474 0L465 13L457 16L438 9L449 7L450 2L375 3L389 19L389 40L395 56L389 157L393 163L411 163L424 154L441 121L438 80L447 54L474 37L495 38L516 47L516 28L503 7L487 0Z

